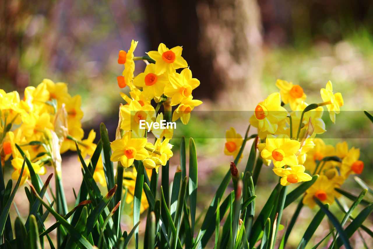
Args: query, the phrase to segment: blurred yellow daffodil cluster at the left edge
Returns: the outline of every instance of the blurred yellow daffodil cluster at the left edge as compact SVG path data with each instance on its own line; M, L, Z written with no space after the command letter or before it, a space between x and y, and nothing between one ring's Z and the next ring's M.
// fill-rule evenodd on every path
M37 87L26 87L23 99L16 91L0 89L0 157L1 165L12 158L13 179L18 179L23 156L18 144L31 161L37 174L45 174L46 167L60 172L60 154L76 151L75 142L84 155L95 150L95 132L83 139L81 96L70 96L65 83L44 79ZM96 173L95 173L96 174ZM23 184L30 176L28 167L22 175ZM97 178L98 176L95 175Z

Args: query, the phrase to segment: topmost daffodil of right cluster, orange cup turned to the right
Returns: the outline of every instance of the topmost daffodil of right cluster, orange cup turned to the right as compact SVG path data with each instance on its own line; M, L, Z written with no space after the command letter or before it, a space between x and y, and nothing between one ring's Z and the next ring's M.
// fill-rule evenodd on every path
M280 89L282 102L284 104L289 103L291 110L295 110L297 105L306 98L300 85L294 85L285 80L277 80L276 86Z

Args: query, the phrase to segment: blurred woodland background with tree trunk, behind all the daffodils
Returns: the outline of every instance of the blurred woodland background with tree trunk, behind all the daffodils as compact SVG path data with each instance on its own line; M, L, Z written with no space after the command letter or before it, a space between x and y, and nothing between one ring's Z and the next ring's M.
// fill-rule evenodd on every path
M276 79L300 84L309 104L321 102L320 88L331 80L334 92L344 97L344 112L336 124L325 115L327 135L322 137L333 145L347 139L349 147L360 147L365 162L361 178L373 185L373 125L363 114L373 110L372 1L6 0L0 10L1 89L22 93L44 78L68 83L71 95L82 95L85 130L98 131L99 123L105 122L112 139L123 102L116 83L123 70L117 53L128 50L132 39L139 41L135 56L156 50L160 42L183 46L193 77L201 81L193 95L204 104L196 110L253 110L258 101L278 91ZM144 66L137 62L135 75ZM179 134L198 137L198 184L205 190L199 190L200 212L232 160L223 154L225 139L209 138L211 132L223 137L233 126L243 135L247 125L248 120L204 116L179 124ZM176 168L178 140L173 143L171 163ZM247 156L248 149L240 170ZM277 181L271 171L263 167L259 196L267 196ZM360 192L352 178L342 188ZM264 200L258 199L258 208ZM291 208L295 207L288 211ZM300 222L309 221L313 212L303 211ZM284 214L284 220L290 215ZM325 231L327 222L315 241ZM291 236L295 239L301 231ZM359 243L357 238L356 248Z

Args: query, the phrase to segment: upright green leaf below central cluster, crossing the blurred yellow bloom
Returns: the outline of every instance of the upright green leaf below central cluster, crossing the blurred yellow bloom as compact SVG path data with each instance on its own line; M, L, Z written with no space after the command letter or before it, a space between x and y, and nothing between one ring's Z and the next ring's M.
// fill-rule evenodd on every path
M142 195L142 186L144 185L144 165L139 161L139 166L137 170L135 190L134 190L134 225L140 220L140 208L141 208L141 195ZM135 246L138 248L138 238L139 231L138 228L135 229Z

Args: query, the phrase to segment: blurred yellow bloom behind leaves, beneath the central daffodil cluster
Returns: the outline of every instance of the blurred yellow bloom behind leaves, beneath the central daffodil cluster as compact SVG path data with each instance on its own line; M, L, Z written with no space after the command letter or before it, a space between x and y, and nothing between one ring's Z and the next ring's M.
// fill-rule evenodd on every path
M131 204L132 210L133 210L136 176L137 176L137 172L136 172L135 167L132 167L132 170L125 170L123 172L123 188L127 188L126 203L132 203ZM142 190L140 213L144 212L148 207L149 207L148 201L146 199L144 190Z

